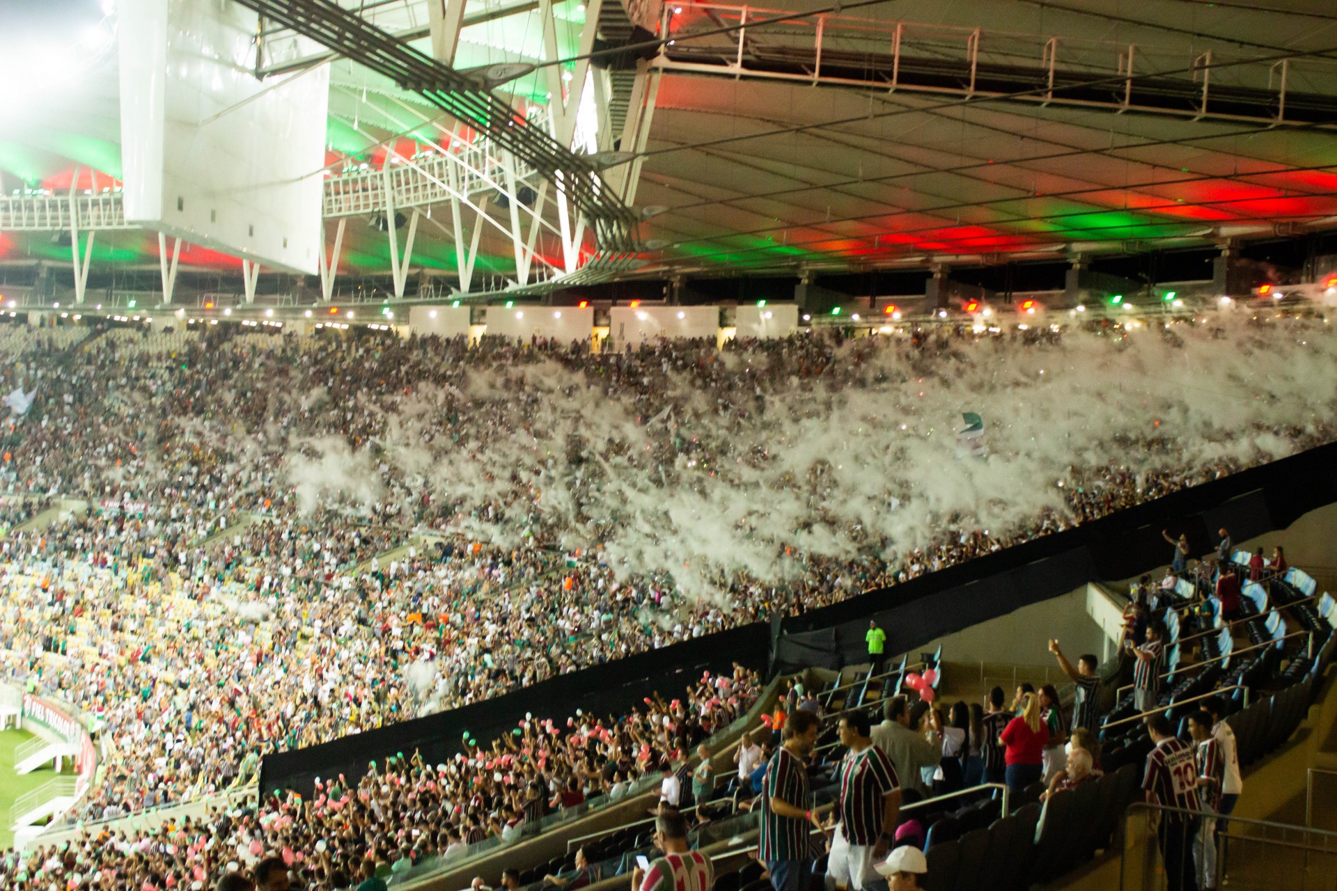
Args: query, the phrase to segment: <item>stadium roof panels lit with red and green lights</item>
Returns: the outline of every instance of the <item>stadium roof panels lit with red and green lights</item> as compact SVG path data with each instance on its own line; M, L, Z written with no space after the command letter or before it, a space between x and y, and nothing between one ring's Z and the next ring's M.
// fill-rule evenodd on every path
M425 53L436 1L340 0ZM578 0L551 5L554 52L548 8L467 0L453 67L537 65L496 94L541 107L545 63L580 71L571 59L587 15ZM639 83L634 53L604 53L584 99L596 127L616 130L587 128L584 148L638 155L623 167L639 166L635 204L652 210L635 275L1058 259L1337 223L1337 9L1324 4L603 0L594 9L596 52L655 40L663 25L673 40L642 47ZM115 190L126 47L114 1L20 3L4 15L23 13L28 52L0 61L12 84L0 104L0 194L64 194L76 168L80 190ZM267 40L261 63L275 76L328 59L291 32ZM460 132L421 94L346 57L329 65L333 176L448 147ZM616 138L632 132L627 108L643 96L652 106L636 152ZM479 269L513 275L508 211L488 212L501 226L483 234ZM413 269L456 270L447 215L417 228ZM348 226L342 269L388 273L385 234L364 223ZM552 250L547 238L540 254ZM158 251L156 232L115 230L92 258L156 269ZM36 259L68 263L68 240L0 231L0 262ZM182 263L239 267L193 246Z

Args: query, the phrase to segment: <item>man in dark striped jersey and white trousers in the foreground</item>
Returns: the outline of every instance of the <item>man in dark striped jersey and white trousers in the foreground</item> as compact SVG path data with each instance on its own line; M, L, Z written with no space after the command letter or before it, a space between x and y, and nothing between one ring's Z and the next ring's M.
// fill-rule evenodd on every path
M868 712L840 719L840 741L849 749L837 781L836 836L826 860L837 888L862 891L880 882L874 864L886 856L901 812L901 785L886 752L869 737Z

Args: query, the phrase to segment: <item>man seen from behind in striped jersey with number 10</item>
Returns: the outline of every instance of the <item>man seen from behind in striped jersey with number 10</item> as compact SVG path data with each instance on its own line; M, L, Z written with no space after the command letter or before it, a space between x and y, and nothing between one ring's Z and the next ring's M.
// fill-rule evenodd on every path
M1166 864L1169 891L1197 891L1193 871L1193 839L1198 832L1198 765L1193 747L1174 736L1163 713L1146 719L1147 735L1155 748L1147 755L1142 789L1148 804L1178 808L1161 812L1157 835L1161 859Z

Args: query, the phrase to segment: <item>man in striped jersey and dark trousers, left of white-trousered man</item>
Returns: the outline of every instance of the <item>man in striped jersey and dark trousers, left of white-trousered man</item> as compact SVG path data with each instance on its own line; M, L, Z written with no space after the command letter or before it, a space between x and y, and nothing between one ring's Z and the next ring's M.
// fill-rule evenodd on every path
M766 765L761 789L761 840L757 859L766 864L775 891L804 891L813 871L813 836L821 822L812 811L808 765L821 719L796 711L785 724L785 743Z

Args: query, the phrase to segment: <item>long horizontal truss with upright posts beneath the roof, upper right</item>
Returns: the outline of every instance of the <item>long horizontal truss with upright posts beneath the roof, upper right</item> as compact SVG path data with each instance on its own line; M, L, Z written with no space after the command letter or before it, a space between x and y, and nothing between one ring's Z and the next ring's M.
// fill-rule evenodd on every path
M1337 120L1337 65L1313 55L1278 61L1207 51L1194 57L1138 44L840 13L790 20L759 33L746 27L787 12L690 0L664 4L660 33L671 40L654 64L681 73L995 96L1191 120L1309 128ZM693 36L725 27L733 31ZM1298 79L1301 67L1305 75Z

